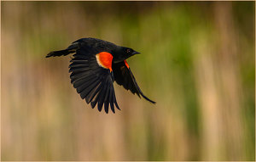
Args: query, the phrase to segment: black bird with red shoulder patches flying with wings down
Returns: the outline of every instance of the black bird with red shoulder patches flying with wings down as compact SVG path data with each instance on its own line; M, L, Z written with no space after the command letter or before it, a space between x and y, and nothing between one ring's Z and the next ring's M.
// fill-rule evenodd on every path
M116 102L113 81L130 90L133 94L143 96L150 103L155 103L147 98L137 85L131 69L125 59L138 54L130 47L120 47L112 42L96 38L82 38L73 42L67 49L53 51L47 54L51 56L66 56L73 54L69 72L71 83L86 103L90 103L92 109L97 104L98 110L104 109L108 113L108 106L114 113L114 106L119 109Z

